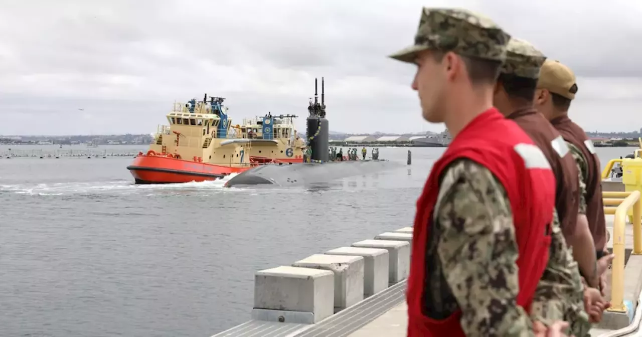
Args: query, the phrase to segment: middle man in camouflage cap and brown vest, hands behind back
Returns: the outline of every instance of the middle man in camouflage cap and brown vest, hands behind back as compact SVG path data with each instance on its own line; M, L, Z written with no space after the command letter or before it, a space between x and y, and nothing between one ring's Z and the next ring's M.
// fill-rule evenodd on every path
M542 322L563 318L571 325L571 333L582 337L588 335L591 324L584 309L585 289L578 266L584 275L591 275L595 288L586 289L586 297L591 300L587 307L596 306L597 320L607 302L596 289L593 237L586 217L578 214L579 178L575 160L559 132L534 108L535 87L544 60L546 57L532 44L510 39L506 61L495 86L494 105L542 150L557 182L550 257L535 291L531 317ZM572 255L567 243L573 246Z

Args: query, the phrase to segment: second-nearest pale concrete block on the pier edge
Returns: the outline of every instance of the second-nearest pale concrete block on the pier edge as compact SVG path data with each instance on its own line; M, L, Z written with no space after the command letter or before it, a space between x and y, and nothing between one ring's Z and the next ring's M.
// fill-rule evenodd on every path
M318 268L334 273L334 309L341 310L363 300L363 257L314 254L295 267Z

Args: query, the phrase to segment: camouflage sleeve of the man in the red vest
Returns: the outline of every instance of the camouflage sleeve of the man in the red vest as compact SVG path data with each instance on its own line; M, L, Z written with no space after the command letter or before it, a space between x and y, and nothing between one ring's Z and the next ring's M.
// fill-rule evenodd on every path
M504 187L480 164L456 160L442 176L433 214L424 313L442 319L461 309L467 336L532 335L516 304L519 254Z

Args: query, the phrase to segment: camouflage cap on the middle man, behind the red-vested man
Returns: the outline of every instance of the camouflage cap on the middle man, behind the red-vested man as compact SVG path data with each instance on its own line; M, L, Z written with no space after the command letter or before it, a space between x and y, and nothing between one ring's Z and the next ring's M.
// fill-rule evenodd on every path
M546 56L532 44L512 38L506 47L506 61L501 66L501 73L537 79L545 60Z

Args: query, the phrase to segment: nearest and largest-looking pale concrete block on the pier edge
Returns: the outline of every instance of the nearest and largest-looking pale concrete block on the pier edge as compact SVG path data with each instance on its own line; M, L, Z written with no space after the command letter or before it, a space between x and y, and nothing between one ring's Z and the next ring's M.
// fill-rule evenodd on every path
M254 308L312 313L311 323L334 314L334 274L280 266L254 276Z

